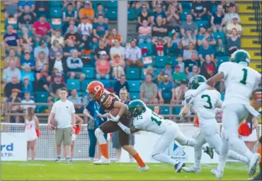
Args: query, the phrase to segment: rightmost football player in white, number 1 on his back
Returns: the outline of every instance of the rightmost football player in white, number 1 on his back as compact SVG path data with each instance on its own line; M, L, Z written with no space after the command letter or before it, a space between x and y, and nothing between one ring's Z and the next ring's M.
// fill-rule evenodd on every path
M252 153L246 147L244 141L239 139L239 123L250 113L256 118L261 115L250 105L250 97L261 83L261 74L249 67L250 55L243 49L239 49L232 54L231 62L224 62L220 65L218 73L209 78L192 93L196 97L217 81L224 80L226 87L224 103L222 105L222 146L220 163L217 169L212 170L212 174L217 178L222 178L224 165L226 163L229 146L232 146L237 153L249 159L249 175L256 173L256 163L260 155Z

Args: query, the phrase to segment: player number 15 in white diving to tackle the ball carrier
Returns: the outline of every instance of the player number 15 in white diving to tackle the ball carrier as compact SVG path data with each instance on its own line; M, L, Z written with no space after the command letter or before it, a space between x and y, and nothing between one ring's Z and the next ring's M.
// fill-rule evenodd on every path
M133 118L132 127L129 129L123 124L118 125L127 133L138 132L139 130L152 132L161 135L152 151L152 158L174 166L176 173L181 172L183 162L177 162L164 154L173 140L181 145L195 146L195 140L187 139L180 131L178 124L169 119L162 119L155 112L150 110L141 100L132 100L127 107L127 115Z

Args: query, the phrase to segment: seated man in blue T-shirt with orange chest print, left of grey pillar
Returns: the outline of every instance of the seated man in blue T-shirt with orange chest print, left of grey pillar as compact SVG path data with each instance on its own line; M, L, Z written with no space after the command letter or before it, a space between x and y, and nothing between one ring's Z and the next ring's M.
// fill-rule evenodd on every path
M93 42L97 42L101 37L104 39L108 37L108 23L105 22L103 15L99 15L97 23L93 24Z

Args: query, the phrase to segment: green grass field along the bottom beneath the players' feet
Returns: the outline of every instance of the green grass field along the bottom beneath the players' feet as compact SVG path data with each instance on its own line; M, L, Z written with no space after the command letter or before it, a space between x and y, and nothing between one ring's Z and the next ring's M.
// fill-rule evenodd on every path
M93 165L90 162L1 162L1 180L216 180L210 173L216 165L201 165L201 173L174 173L164 163L149 163L147 173L138 173L136 163ZM227 163L223 180L246 180L246 165Z

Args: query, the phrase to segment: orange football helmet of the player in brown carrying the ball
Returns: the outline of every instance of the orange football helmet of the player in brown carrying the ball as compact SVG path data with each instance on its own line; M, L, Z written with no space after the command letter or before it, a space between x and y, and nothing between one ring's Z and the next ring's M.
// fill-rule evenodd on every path
M91 81L86 88L87 98L89 100L99 100L104 91L103 83L100 81Z

